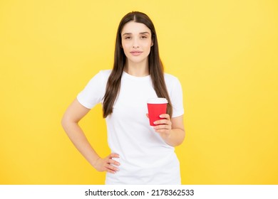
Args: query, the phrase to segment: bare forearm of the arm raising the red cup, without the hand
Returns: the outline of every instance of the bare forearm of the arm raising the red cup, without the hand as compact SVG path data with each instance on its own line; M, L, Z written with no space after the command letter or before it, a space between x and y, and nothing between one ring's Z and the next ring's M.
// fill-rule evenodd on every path
M170 134L163 139L170 146L179 146L185 139L185 131L183 129L171 129Z

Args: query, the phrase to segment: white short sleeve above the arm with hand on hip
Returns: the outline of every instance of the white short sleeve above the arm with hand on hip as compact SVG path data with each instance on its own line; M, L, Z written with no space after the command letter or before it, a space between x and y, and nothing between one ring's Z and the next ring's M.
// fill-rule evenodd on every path
M88 82L86 87L79 92L76 98L83 107L92 109L96 104L102 101L109 75L110 70L98 72L98 74Z

